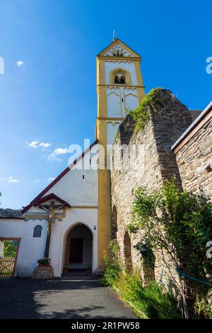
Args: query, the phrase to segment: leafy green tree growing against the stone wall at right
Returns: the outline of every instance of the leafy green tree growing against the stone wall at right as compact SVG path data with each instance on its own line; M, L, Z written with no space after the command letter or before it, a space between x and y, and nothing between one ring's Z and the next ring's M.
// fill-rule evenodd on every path
M211 221L212 209L207 198L181 191L175 179L165 180L155 193L148 193L145 188L136 191L129 230L142 234L136 246L141 255L142 251L144 256L150 256L151 249L158 250L172 278L175 279L172 269L181 274L179 283L176 279L175 283L182 295L184 317L189 317L189 310L194 312L195 296L208 290L201 280L207 281L212 271L211 261L206 257L206 242L212 239ZM169 255L171 266L165 254Z

